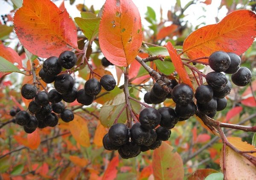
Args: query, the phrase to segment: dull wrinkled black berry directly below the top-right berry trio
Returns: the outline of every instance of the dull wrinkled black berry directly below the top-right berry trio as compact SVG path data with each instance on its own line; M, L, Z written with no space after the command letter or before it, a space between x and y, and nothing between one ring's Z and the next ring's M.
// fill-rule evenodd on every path
M206 81L212 90L223 90L227 84L227 77L219 72L210 72L206 75Z

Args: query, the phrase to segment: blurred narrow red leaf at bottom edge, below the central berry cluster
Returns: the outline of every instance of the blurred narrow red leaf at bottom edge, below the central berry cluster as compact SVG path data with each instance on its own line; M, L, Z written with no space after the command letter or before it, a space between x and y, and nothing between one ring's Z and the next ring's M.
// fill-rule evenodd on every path
M114 180L117 175L117 166L119 164L118 156L114 157L111 162L108 164L102 180Z

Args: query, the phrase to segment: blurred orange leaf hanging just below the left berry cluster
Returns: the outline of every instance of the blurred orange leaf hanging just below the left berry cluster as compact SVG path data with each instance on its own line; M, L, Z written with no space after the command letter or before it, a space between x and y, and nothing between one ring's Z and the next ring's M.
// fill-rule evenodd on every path
M74 120L69 122L69 128L76 142L84 147L90 146L87 122L81 116L75 114Z

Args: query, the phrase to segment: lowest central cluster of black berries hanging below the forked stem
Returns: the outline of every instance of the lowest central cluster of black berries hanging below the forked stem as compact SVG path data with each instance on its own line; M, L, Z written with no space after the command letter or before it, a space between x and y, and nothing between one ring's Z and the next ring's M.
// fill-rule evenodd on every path
M140 112L139 119L140 122L132 125L131 129L122 123L111 126L102 139L104 148L109 151L118 150L124 159L136 157L141 151L154 150L162 141L168 140L170 129L178 121L175 110L170 107L161 107L158 110L145 108Z

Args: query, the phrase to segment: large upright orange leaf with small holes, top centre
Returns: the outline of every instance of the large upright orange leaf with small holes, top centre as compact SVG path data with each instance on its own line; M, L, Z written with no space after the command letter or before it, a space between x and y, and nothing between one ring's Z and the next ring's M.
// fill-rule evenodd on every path
M99 45L111 63L127 67L142 44L140 13L131 0L106 0L99 25Z

